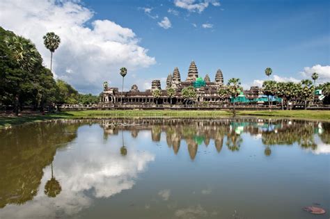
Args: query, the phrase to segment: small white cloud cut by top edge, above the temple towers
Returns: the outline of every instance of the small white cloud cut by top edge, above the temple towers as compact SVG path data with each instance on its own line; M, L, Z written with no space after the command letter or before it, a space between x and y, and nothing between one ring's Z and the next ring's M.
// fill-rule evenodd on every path
M204 0L204 1L196 1L196 0L174 0L175 6L178 8L184 8L189 10L189 12L197 12L202 13L205 8L210 6L220 6L219 1L217 0Z

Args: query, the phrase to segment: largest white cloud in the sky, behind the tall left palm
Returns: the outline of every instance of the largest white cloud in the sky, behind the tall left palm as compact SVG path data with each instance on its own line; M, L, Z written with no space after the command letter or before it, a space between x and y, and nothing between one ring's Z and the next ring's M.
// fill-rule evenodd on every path
M118 70L122 66L134 72L155 64L148 49L139 46L132 29L107 19L93 20L93 15L92 10L75 0L0 1L0 26L30 38L47 66L50 53L42 36L49 31L60 36L53 70L58 78L82 92L100 92L102 82L109 79L120 84Z

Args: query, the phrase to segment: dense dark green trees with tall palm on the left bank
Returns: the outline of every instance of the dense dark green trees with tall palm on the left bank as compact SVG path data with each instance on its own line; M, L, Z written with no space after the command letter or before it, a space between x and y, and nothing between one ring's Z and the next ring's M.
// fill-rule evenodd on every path
M60 38L51 32L43 40L52 57ZM44 111L62 104L98 102L97 96L80 94L65 81L55 80L50 61L49 70L31 40L0 27L0 107L13 106L18 114L24 106Z

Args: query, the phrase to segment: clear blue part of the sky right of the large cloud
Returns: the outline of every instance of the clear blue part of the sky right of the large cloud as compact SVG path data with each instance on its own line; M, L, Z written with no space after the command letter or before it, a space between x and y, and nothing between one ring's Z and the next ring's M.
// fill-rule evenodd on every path
M185 79L191 60L201 76L208 73L213 78L221 68L225 79L239 77L243 83L265 79L265 67L278 76L299 78L306 66L329 65L330 1L219 2L221 6L194 13L173 1L85 1L97 12L95 18L128 26L141 38L141 45L157 60L141 72L144 77L164 77L178 66ZM143 8L152 10L144 13ZM171 21L171 28L157 25L163 17ZM204 29L202 24L213 27Z

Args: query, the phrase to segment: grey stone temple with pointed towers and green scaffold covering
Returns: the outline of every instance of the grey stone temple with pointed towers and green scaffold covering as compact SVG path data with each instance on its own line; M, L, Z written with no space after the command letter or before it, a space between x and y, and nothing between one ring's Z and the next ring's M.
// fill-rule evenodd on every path
M196 90L195 103L224 103L229 102L230 97L223 98L217 93L217 90L223 85L223 73L217 70L214 81L205 74L204 79L198 75L196 63L192 61L189 66L187 79L181 81L181 75L178 67L175 67L173 73L168 74L166 87L162 89L160 80L153 80L150 90L140 91L138 86L133 85L128 92L120 92L118 88L109 88L108 83L104 82L104 90L100 95L102 104L187 104L186 99L182 97L182 89L192 86ZM173 88L174 95L169 97L168 89ZM159 90L155 95L155 90ZM250 90L244 90L246 98L256 98L260 94L258 87L251 87Z

